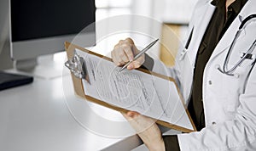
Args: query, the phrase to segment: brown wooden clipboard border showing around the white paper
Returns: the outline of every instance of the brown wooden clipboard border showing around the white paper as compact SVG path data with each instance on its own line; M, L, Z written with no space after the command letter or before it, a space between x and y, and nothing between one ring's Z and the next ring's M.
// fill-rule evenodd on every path
M103 56L103 55L98 54L98 53L91 52L90 50L87 50L87 49L85 49L85 48L81 48L81 47L79 47L79 46L77 46L77 45L75 45L75 44L73 44L73 43L65 42L64 45L65 45L65 49L66 49L66 53L67 53L67 59L73 59L75 49L77 48L77 49L83 51L84 53L90 53L90 54L95 55L95 56L97 56L97 57L99 57L99 58L107 59L108 61L113 62L112 59L110 59L110 58L108 58L108 57L106 57L106 56ZM160 77L160 78L163 78L163 79L165 79L165 80L172 81L172 82L175 83L175 86L176 86L176 88L177 88L177 92L178 92L178 94L179 94L179 97L180 97L181 100L182 100L182 103L183 103L183 107L184 107L184 109L185 109L185 112L186 112L186 114L187 114L188 117L189 117L189 121L190 121L191 125L193 126L193 130L188 129L188 128L185 128L185 127L183 127L183 126L177 126L177 125L175 125L175 124L168 123L168 122L163 121L163 120L156 120L156 123L159 124L159 125L161 125L161 126L166 126L166 127L168 127L168 128L172 128L172 129L177 130L177 131L183 131L183 132L192 132L192 131L196 131L195 124L194 124L193 120L191 119L191 116L189 115L188 109L185 107L183 97L182 97L181 93L180 93L179 90L178 90L176 81L175 81L172 77L163 76L163 75L160 75L160 74L158 74L158 73L155 73L155 72L152 72L152 71L149 71L149 70L145 70L145 69L142 69L142 68L139 68L139 69L137 69L137 70L143 71L144 73L147 73L147 74L150 74L150 75L153 75L153 76L158 76L158 77ZM79 98L83 98L83 99L85 99L85 100L87 100L87 101L90 101L90 102L92 102L92 103L97 103L97 104L99 104L99 105L102 105L102 106L104 106L104 107L107 107L107 108L109 108L109 109L113 109L113 110L116 110L116 111L125 112L125 113L128 111L127 109L119 108L119 107L114 106L114 105L112 105L112 104L110 104L110 103L106 103L106 102L104 102L104 101L102 101L102 100L99 100L99 99L93 98L93 97L91 97L91 96L89 96L89 95L86 95L86 94L84 93L84 86L83 86L82 78L81 78L81 77L78 77L78 76L75 76L75 75L73 74L73 71L71 71L71 76L72 76L72 80L73 80L73 89L74 89L74 92L75 92L75 94L76 94L77 96L79 96Z

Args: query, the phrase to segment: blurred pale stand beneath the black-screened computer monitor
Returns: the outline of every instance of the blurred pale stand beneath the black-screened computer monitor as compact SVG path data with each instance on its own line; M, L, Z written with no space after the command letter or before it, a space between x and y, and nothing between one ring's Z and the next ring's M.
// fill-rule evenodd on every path
M37 59L15 61L15 69L25 75L54 79L68 75L63 72L65 52L39 56Z

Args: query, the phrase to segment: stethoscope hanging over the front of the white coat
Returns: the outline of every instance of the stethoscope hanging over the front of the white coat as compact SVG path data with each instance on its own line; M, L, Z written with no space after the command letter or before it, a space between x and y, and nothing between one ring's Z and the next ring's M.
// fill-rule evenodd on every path
M230 70L228 69L227 64L228 64L228 62L229 62L230 53L232 52L232 49L233 49L233 47L234 47L234 44L235 44L237 38L240 36L241 31L244 30L244 28L245 28L244 25L245 25L249 20L252 20L253 18L256 18L256 14L251 14L251 15L247 16L247 18L246 18L245 20L242 20L242 21L241 21L241 25L239 26L238 31L236 31L236 36L235 36L233 42L231 43L231 46L230 46L230 49L229 49L229 51L228 51L228 53L227 53L227 55L226 55L226 58L224 59L223 70L221 70L220 67L218 67L218 70L219 70L221 73L223 73L223 74L225 74L225 75L228 75L228 76L235 76L235 75L233 74L233 72L236 70L236 68L237 68L245 59L247 59L247 55L249 55L249 54L251 54L251 53L253 52L253 49L254 49L255 46L256 46L256 39L254 40L254 42L253 42L253 44L251 45L251 47L247 50L247 52L242 55L241 59L238 60L237 63L236 63Z

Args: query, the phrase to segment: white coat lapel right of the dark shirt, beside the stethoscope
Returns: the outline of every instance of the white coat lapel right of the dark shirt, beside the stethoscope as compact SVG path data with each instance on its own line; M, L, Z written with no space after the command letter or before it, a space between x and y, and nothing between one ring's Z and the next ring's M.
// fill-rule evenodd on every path
M238 31L239 26L241 25L241 21L244 20L248 15L255 14L256 10L253 10L253 7L256 5L255 0L248 0L245 6L241 9L240 14L237 15L236 19L232 22L229 29L224 33L224 36L218 42L215 50L212 53L211 59L216 57L219 53L224 52L227 48L230 48L231 42L236 36L236 31Z

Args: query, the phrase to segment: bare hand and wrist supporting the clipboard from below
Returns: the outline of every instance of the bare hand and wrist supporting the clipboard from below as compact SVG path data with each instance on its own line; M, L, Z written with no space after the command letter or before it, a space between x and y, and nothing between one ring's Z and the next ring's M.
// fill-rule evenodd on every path
M121 114L129 121L133 129L137 131L137 135L141 137L143 143L145 143L150 151L165 150L165 143L154 119L140 115L134 111L128 111L127 113L121 112Z

